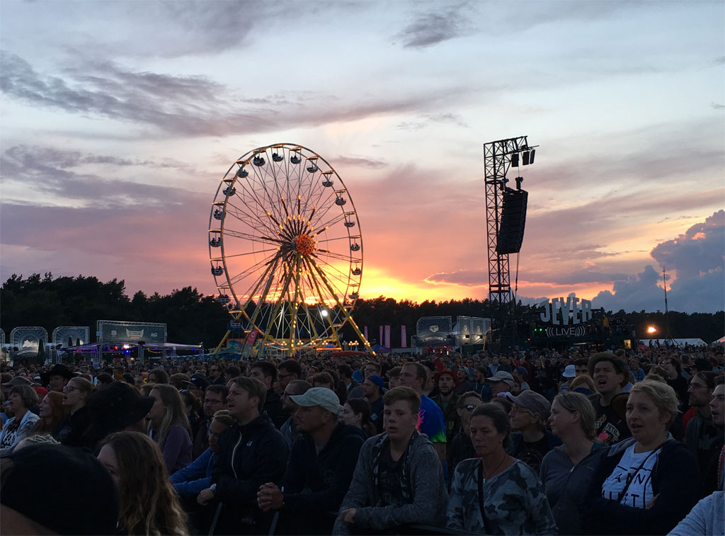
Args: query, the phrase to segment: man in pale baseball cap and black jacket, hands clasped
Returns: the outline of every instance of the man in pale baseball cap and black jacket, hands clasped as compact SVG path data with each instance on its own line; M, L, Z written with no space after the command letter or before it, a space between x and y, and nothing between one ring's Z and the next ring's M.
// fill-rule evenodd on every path
M312 387L291 399L299 406L295 419L303 433L292 445L282 490L268 482L260 487L257 500L263 511L282 512L283 532L331 534L365 434L338 423L340 401L330 389Z

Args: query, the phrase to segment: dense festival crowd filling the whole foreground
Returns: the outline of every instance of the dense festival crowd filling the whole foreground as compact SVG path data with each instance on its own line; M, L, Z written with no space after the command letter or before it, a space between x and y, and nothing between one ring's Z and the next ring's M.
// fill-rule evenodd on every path
M725 535L723 371L722 347L3 366L0 532Z

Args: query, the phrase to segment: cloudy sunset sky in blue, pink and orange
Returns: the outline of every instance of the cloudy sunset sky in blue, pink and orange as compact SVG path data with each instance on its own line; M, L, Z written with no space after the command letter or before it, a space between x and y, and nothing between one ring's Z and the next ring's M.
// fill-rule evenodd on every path
M221 178L291 142L355 202L361 297L482 299L483 144L529 136L518 297L663 310L664 265L671 310L721 310L724 21L722 1L3 0L0 279L215 293Z

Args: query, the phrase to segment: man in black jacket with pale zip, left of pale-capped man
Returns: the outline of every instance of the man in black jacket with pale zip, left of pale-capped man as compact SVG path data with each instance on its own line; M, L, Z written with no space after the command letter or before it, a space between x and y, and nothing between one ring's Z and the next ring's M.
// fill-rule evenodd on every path
M265 386L257 379L233 380L227 406L237 424L219 438L212 485L199 493L202 506L223 504L215 534L265 534L271 516L257 508L257 490L266 482L280 482L289 450L282 434L260 413Z

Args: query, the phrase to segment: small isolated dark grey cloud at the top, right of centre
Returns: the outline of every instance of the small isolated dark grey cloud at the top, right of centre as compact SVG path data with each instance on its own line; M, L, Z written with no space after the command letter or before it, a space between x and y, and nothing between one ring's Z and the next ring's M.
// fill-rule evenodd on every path
M458 4L439 12L418 15L395 37L401 39L407 49L420 49L464 36L469 31L467 7Z

